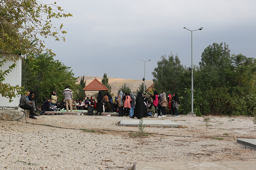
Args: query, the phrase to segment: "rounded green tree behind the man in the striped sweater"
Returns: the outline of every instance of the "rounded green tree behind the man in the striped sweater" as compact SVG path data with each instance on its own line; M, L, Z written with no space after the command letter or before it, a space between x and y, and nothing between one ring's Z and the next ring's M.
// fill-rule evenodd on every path
M78 88L77 78L70 68L59 60L54 60L53 55L49 53L28 57L25 66L22 66L22 73L29 73L29 76L22 74L21 85L34 91L35 99L39 103L50 97L52 91L57 91L60 101L64 98L62 92L66 85L69 85L73 92Z

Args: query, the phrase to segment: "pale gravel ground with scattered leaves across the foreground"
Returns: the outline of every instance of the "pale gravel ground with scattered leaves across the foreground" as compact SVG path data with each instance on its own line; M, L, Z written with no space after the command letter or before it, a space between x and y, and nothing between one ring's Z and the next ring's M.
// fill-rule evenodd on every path
M118 125L128 117L43 115L27 118L30 123L0 121L0 169L131 170L136 161L256 161L255 149L236 143L239 137L256 138L252 117L210 118L207 137L204 117L168 115L160 119L181 126L145 127L156 134L143 137L129 132L138 127Z

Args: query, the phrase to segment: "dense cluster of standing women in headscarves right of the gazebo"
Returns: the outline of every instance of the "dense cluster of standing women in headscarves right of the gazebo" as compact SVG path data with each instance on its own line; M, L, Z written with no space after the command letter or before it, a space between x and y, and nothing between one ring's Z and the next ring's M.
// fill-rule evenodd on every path
M170 115L178 117L179 106L180 100L177 93L168 94L166 97L165 92L157 94L154 91L154 94L149 96L139 92L135 99L133 93L123 94L121 91L115 97L114 94L110 96L109 93L103 96L103 93L99 91L96 110L98 115L103 112L117 112L118 116L140 119L142 117L166 117L166 110L169 110Z

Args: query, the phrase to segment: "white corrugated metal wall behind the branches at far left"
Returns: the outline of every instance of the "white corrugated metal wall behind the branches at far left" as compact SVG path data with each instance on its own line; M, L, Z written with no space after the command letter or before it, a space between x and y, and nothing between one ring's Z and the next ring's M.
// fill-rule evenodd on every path
M3 58L0 58L0 60L3 60ZM11 66L12 64L13 62L7 61L6 63L4 63L3 67L0 67L0 69L2 71L5 71L9 69L9 66ZM16 85L21 86L21 65L22 65L22 57L20 55L19 60L16 61L15 68L12 70L12 72L10 72L9 74L7 74L7 76L5 76L5 80L3 81L3 83L10 83L10 85L12 86L16 86ZM9 103L9 99L2 97L2 95L0 95L0 109L17 108L20 104L20 96L16 98L12 98L12 100L13 101Z

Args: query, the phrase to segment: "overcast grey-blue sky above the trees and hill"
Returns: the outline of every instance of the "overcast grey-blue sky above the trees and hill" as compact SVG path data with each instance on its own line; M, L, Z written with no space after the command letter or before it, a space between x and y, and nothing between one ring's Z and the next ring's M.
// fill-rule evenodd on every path
M146 80L162 55L178 53L191 65L214 42L226 42L230 54L254 57L256 52L255 0L47 0L73 14L54 20L63 23L66 42L47 39L56 59L72 67L75 76ZM55 25L55 24L54 24Z

